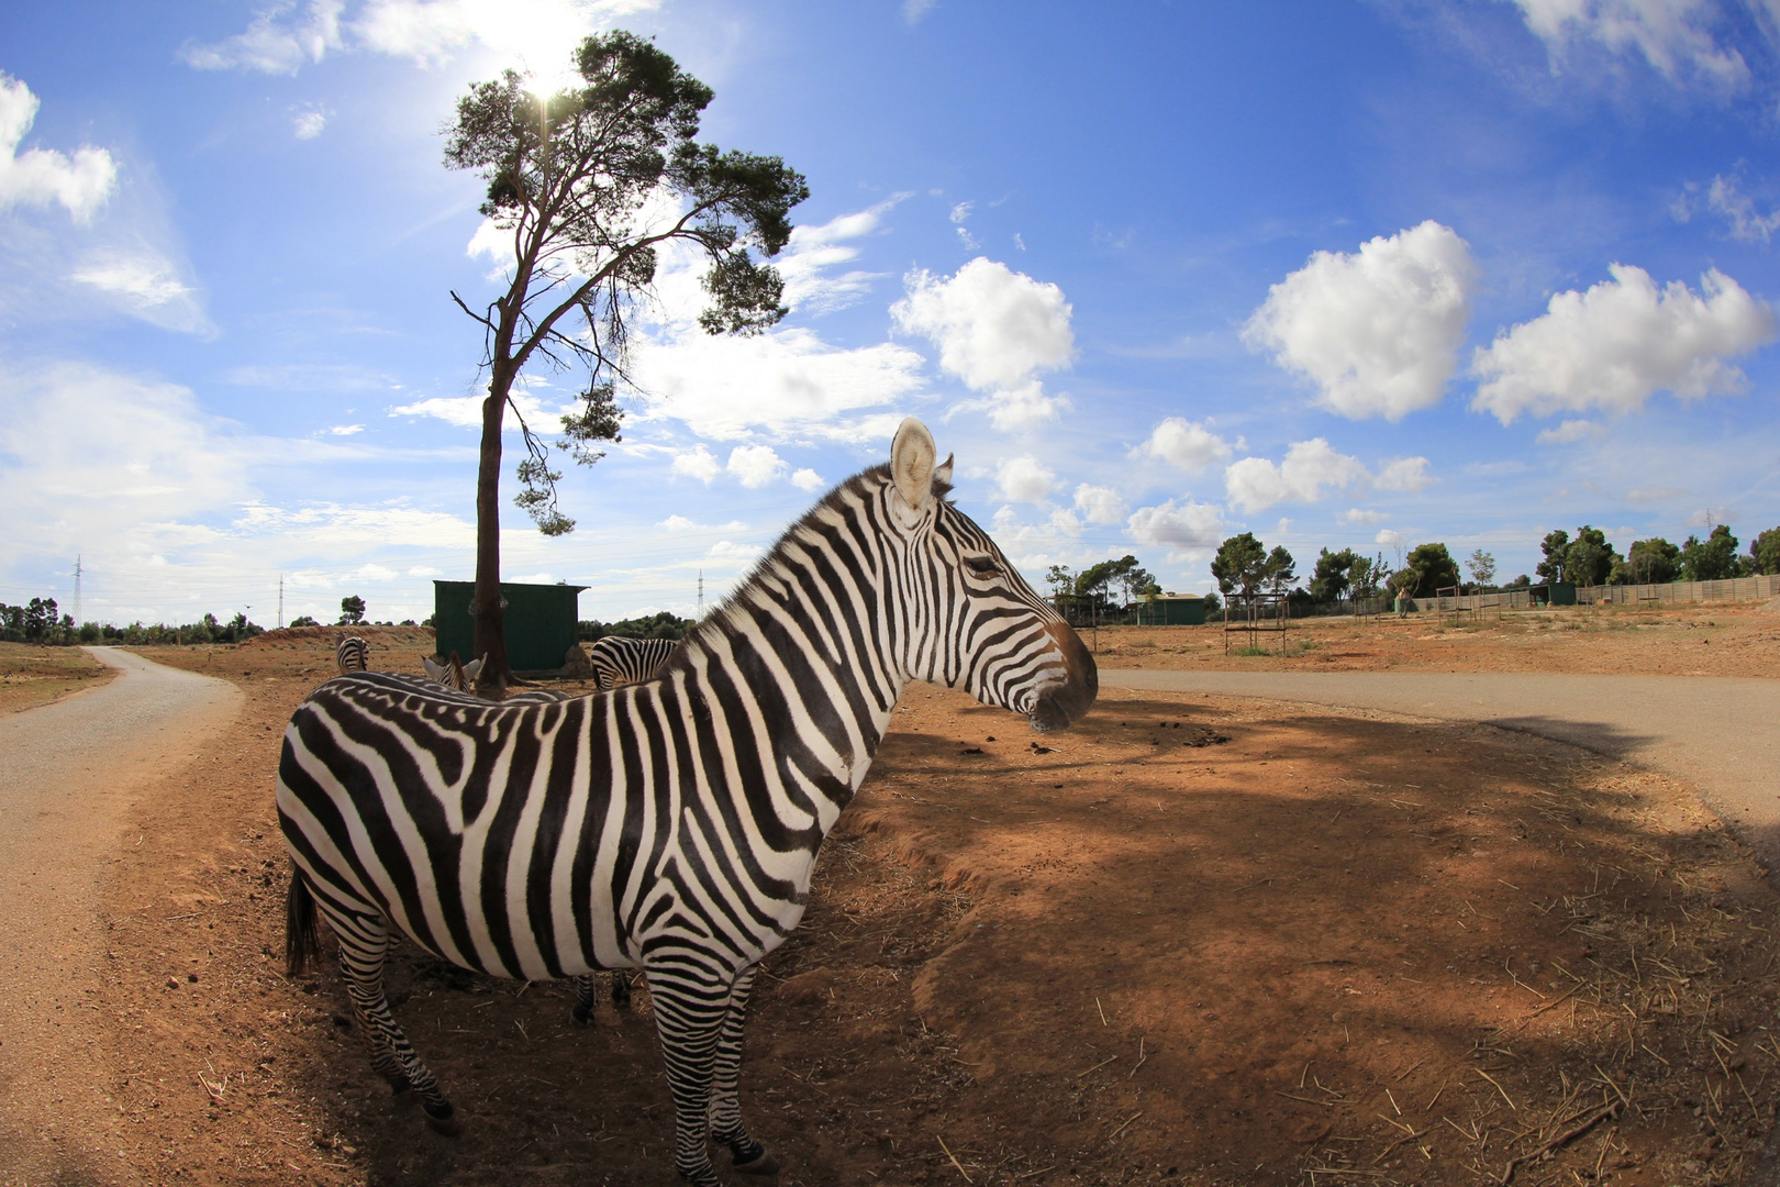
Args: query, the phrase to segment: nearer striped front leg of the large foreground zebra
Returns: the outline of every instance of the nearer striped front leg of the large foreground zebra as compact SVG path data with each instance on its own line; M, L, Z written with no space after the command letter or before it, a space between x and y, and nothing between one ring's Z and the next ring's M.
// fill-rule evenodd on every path
M739 977L733 970L671 957L662 963L651 961L646 975L650 998L655 1004L655 1030L662 1043L662 1062L668 1066L668 1089L673 1093L673 1166L692 1187L721 1187L723 1180L717 1178L717 1169L710 1164L708 1148L712 1084L717 1045L730 1018ZM739 1119L735 1134L748 1141L748 1135L740 1132ZM756 1157L764 1157L764 1153L760 1151Z

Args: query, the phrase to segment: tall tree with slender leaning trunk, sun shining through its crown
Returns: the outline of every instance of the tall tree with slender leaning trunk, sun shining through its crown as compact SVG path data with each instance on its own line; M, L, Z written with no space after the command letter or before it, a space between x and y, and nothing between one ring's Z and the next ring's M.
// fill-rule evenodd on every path
M502 422L520 420L527 457L516 504L546 536L573 530L557 505L550 447L525 424L513 384L539 359L582 372L578 404L561 438L584 464L619 440L616 384L628 381L628 324L655 279L659 251L685 244L705 256L708 333L751 335L787 310L767 263L790 240L790 208L808 198L778 157L723 151L696 141L712 91L662 50L628 32L587 37L575 53L580 82L550 96L506 71L457 101L445 164L486 182L482 215L511 244L504 292L481 310L452 292L482 327L482 447L477 473L475 650L481 680L504 685L500 630Z

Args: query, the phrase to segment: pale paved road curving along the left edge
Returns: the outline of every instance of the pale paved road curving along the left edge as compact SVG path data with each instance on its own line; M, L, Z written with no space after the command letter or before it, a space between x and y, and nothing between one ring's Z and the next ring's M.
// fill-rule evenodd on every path
M130 1183L89 997L126 810L240 712L233 685L87 648L121 669L0 717L0 1183Z

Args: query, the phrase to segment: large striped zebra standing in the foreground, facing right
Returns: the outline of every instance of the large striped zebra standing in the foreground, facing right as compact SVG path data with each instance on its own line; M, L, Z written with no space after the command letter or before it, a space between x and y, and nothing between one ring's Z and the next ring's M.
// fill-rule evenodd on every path
M675 1102L675 1169L717 1187L778 1162L742 1125L742 1021L760 959L803 916L822 838L902 687L926 680L1061 730L1093 657L947 498L952 461L904 420L890 464L829 491L644 683L550 705L417 678L324 683L285 730L278 815L294 872L287 970L317 909L374 1066L454 1107L390 1014L399 931L500 977L641 966Z

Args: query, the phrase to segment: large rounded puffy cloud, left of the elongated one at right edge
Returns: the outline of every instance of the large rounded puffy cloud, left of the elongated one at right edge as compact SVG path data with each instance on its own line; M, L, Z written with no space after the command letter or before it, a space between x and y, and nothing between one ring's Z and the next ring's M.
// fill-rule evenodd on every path
M1242 338L1312 379L1324 408L1401 420L1440 402L1476 272L1465 240L1429 219L1355 254L1317 251L1267 290Z

